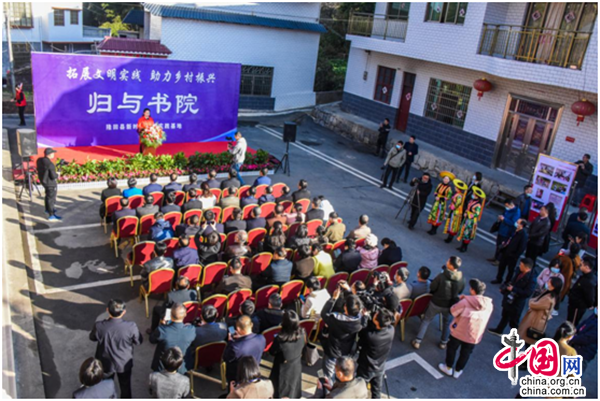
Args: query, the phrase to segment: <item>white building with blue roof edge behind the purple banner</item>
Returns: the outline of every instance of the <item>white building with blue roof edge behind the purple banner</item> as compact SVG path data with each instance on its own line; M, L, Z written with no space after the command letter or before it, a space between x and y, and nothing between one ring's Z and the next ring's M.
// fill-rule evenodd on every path
M240 109L315 105L320 3L144 8L145 38L167 46L169 59L242 64Z

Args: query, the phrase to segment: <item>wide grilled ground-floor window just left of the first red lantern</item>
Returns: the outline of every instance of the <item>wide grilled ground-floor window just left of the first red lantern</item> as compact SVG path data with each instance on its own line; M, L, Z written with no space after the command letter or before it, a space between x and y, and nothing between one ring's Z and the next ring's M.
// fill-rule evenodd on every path
M425 103L425 117L463 128L471 87L431 78Z

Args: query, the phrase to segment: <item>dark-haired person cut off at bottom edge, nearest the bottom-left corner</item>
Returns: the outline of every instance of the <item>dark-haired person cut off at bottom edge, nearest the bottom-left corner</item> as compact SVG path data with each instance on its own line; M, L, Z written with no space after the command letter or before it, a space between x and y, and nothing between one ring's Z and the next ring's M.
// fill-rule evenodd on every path
M81 387L73 392L73 398L119 398L117 387L112 377L104 377L102 362L88 358L79 368Z

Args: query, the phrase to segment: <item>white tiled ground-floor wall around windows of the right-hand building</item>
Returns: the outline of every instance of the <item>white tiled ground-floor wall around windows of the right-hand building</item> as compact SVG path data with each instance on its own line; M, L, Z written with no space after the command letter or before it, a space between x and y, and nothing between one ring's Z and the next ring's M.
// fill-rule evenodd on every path
M475 80L486 77L494 85L494 89L485 93L480 101L477 100L477 91L472 90L464 130L494 142L498 141L500 137L500 127L509 93L564 105L551 155L564 160L575 161L580 159L583 153L590 153L592 155L592 163L596 166L597 171L598 114L586 117L585 121L577 127L577 116L571 112L571 105L579 100L582 95L597 105L597 94L582 94L576 90L509 80L464 68L390 56L382 53L371 52L369 56L365 51L355 48L352 48L350 51L344 90L373 100L377 67L379 65L401 69L396 72L396 80L390 104L390 106L395 108L398 108L400 102L402 73L406 71L417 75L410 112L419 116L424 114L427 90L431 78L438 78L472 87ZM367 81L363 81L362 79L365 66L367 66L366 68L369 72ZM567 136L574 137L575 142L567 142L565 140ZM594 163L594 161L596 162Z

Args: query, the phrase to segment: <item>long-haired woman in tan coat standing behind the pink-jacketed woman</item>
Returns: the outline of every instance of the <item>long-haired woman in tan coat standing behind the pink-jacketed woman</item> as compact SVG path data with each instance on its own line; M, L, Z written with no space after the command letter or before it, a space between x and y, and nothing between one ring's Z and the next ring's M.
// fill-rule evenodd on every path
M544 334L548 326L548 320L552 319L552 309L560 297L562 281L558 277L552 277L545 285L544 292L529 300L529 310L523 316L519 324L519 337L526 344L532 345L537 341L530 337L534 332Z

